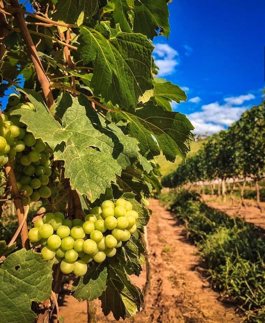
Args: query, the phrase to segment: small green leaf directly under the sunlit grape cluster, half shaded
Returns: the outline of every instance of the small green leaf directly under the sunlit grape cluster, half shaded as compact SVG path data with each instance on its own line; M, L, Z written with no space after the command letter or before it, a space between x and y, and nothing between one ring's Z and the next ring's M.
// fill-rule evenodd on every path
M104 264L95 264L88 268L87 273L79 277L72 287L73 296L79 301L89 299L90 301L101 296L106 290L107 267Z

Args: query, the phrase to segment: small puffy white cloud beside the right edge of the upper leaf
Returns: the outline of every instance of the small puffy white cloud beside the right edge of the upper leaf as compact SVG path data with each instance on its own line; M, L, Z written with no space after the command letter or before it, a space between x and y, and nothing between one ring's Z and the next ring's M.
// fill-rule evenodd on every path
M155 64L159 67L158 76L170 75L178 65L178 52L168 44L156 44L153 52Z

